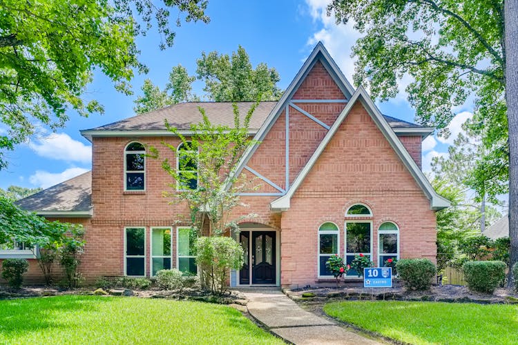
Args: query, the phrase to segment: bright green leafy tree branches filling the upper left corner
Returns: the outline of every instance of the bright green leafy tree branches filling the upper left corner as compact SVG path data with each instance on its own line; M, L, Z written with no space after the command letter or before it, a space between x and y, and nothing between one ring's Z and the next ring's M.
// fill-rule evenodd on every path
M0 4L0 169L6 150L43 124L64 126L68 110L102 112L81 95L93 71L130 92L133 72L146 72L137 59L135 37L154 24L160 48L171 46L176 25L209 22L207 0L2 0Z

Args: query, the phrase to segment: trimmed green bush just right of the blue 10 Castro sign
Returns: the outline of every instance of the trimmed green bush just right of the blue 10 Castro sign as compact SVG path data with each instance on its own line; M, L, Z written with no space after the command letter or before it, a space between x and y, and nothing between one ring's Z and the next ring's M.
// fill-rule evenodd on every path
M411 290L428 290L437 273L429 259L401 259L396 264L396 270L405 286Z

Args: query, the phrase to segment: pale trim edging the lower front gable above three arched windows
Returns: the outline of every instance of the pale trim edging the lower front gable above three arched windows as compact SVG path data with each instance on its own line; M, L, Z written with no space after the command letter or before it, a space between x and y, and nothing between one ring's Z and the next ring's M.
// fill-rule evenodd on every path
M363 106L365 107L369 115L372 117L372 119L374 120L378 128L381 130L387 141L389 141L390 146L392 146L394 151L396 151L396 154L399 156L401 161L403 161L403 164L405 164L407 169L410 171L410 174L412 174L417 184L421 187L428 199L430 199L430 208L432 210L440 210L441 208L450 206L450 201L441 197L437 194L437 192L435 192L434 188L432 187L428 179L426 179L425 175L423 174L419 166L417 166L414 159L410 157L410 154L405 149L403 144L401 144L401 141L396 136L396 133L394 133L394 130L390 128L390 125L385 120L381 112L378 110L372 99L370 99L365 89L362 86L360 86L356 90L356 92L354 92L354 95L352 95L351 99L349 99L349 103L347 103L347 106L345 106L343 111L340 113L338 119L336 119L331 129L329 129L329 132L327 132L327 135L325 135L324 139L320 141L318 148L316 148L315 152L313 153L313 155L311 155L311 158L304 166L303 170L300 171L299 175L296 177L293 184L291 184L291 187L287 191L286 195L278 199L275 199L274 201L271 201L271 209L274 211L283 211L289 208L291 197L293 197L298 187L300 187L300 185L303 183L305 177L316 163L316 160L325 150L327 144L329 144L329 141L331 141L332 137L340 127L340 124L342 124L345 117L347 117L350 110L354 106L354 103L356 103L356 101L358 100L363 103Z

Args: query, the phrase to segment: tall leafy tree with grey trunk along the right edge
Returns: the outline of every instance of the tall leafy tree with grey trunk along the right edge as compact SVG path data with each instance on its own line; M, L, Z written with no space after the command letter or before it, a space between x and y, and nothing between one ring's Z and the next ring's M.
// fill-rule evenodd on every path
M509 172L511 264L517 262L518 1L334 0L327 11L364 34L353 49L354 81L374 97L394 97L410 75L406 91L417 121L445 135L452 109L474 99L472 129L481 132L486 156L475 187L499 191L488 189L488 175L501 184Z

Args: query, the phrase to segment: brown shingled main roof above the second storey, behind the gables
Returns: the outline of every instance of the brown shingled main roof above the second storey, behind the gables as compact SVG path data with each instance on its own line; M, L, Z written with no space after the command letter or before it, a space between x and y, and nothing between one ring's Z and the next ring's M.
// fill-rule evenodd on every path
M263 101L259 103L250 121L249 129L251 132L256 132L262 126L271 110L274 109L276 103L276 101ZM237 102L236 104L241 117L244 118L253 102ZM93 131L166 130L164 120L167 120L171 126L179 130L189 130L191 124L198 124L202 121L199 108L204 108L212 124L233 126L233 108L231 102L186 102L146 112L134 117L128 117L127 119L104 126L81 130L81 133L88 136L91 135ZM423 130L428 130L428 128L423 126L396 119L395 117L383 116L394 129L422 128Z

